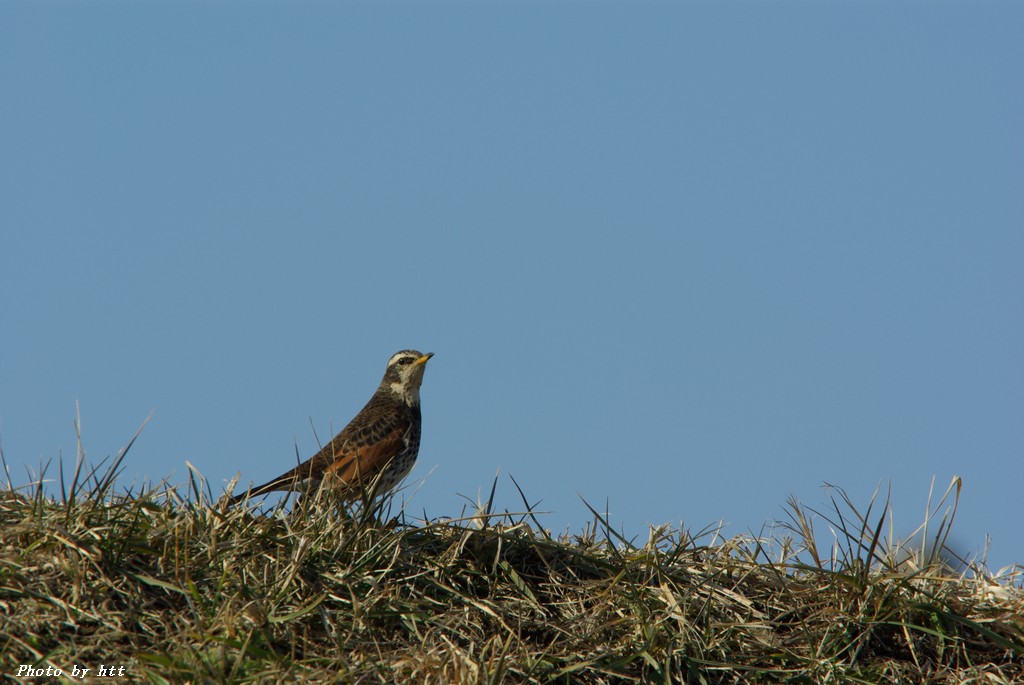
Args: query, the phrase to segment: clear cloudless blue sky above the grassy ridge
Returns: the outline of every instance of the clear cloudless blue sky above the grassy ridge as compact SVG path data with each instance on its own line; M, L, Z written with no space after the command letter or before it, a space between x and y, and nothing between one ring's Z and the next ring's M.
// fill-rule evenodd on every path
M791 495L1024 562L1024 5L4 2L0 439L262 482L435 352L412 510ZM310 425L312 424L312 426ZM821 526L826 531L824 525Z

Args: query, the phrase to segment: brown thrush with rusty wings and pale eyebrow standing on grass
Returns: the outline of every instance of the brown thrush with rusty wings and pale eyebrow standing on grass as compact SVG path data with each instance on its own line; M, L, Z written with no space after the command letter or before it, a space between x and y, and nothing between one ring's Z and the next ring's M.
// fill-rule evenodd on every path
M392 354L373 397L324 448L276 478L236 495L228 506L275 490L322 484L346 500L365 498L371 489L376 495L394 489L413 470L420 451L420 385L433 355L413 349Z

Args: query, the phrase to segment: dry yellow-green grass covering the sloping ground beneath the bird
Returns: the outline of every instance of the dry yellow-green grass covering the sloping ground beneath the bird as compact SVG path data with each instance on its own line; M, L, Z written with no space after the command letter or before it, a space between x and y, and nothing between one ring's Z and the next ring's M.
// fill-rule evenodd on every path
M70 482L58 465L58 497L45 468L0 488L0 677L109 665L154 683L1024 682L1021 569L993 577L945 549L958 480L911 552L888 501L861 512L838 488L827 512L791 501L763 536L627 540L592 509L556 537L525 498L522 513L492 512L494 490L434 521L388 500L228 509L195 471L115 491L126 452L80 456Z

